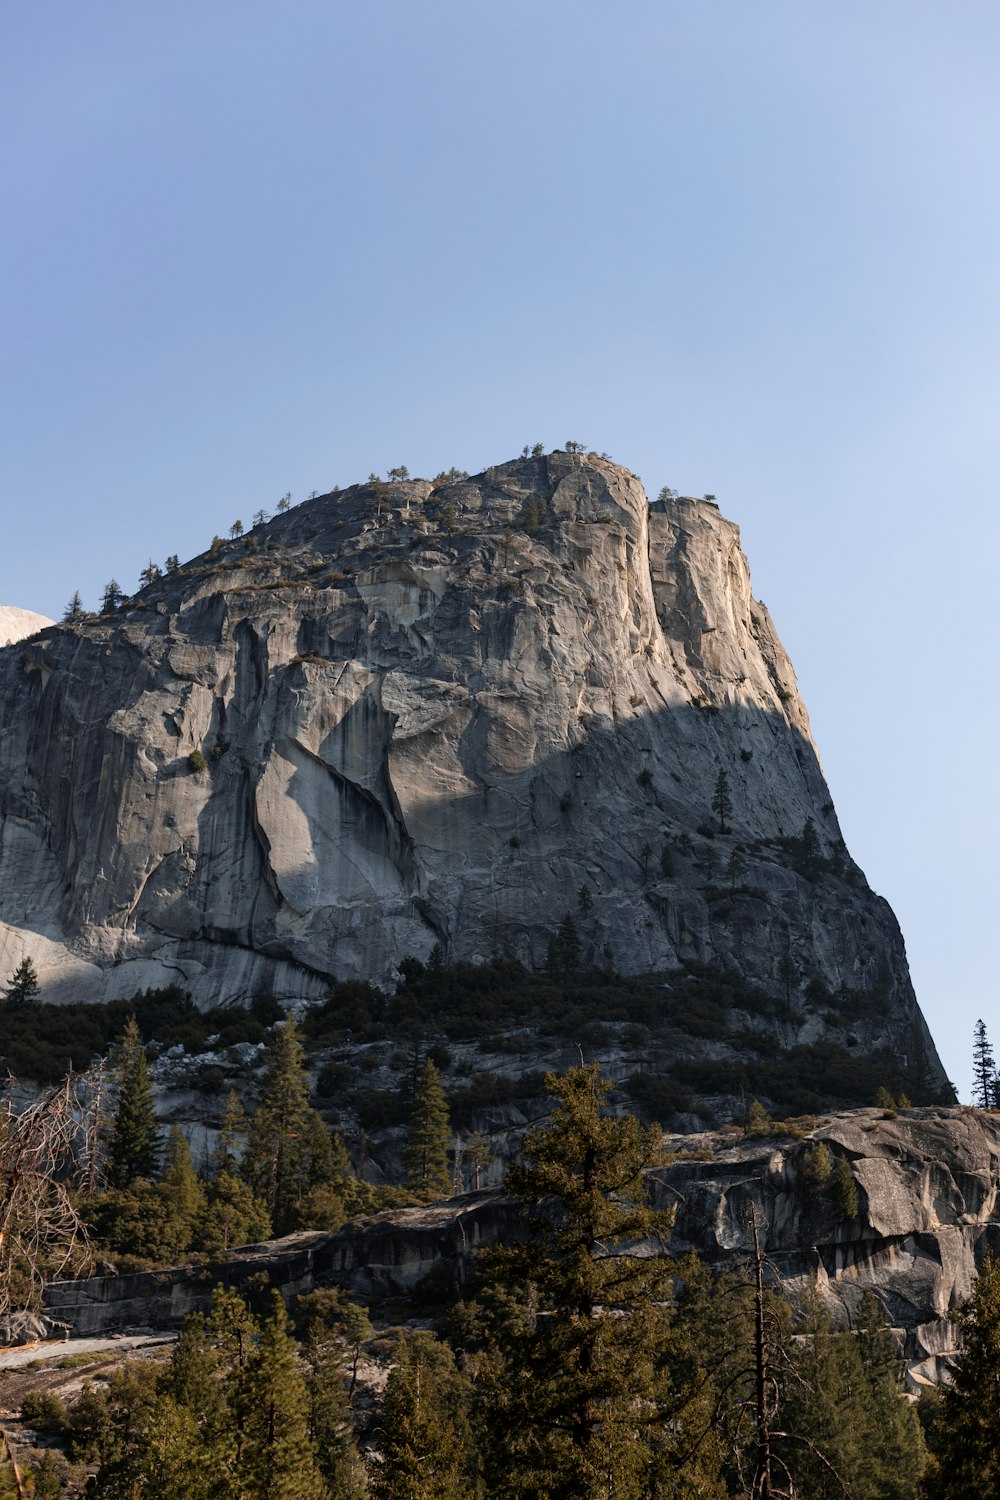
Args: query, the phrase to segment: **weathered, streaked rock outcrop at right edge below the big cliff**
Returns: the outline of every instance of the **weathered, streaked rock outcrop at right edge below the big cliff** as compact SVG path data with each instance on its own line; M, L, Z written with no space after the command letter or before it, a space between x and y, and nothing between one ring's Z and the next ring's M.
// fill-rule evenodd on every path
M829 1180L808 1176L819 1143L846 1158L858 1214L837 1210ZM705 1160L657 1173L673 1206L672 1251L694 1248L711 1264L748 1250L756 1206L763 1248L796 1298L816 1284L835 1322L855 1326L865 1287L900 1330L915 1383L937 1380L958 1348L949 1312L972 1293L976 1268L1000 1248L1000 1125L979 1110L879 1110L828 1116L805 1140L733 1140L705 1134L667 1144ZM943 1359L942 1359L943 1356Z

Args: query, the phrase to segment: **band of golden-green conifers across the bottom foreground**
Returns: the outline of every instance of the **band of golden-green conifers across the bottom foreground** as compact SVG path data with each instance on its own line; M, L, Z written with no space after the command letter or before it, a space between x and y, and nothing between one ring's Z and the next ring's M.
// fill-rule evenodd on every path
M694 1256L670 1258L672 1214L655 1202L664 1166L658 1128L613 1112L610 1083L595 1065L550 1074L546 1088L550 1113L507 1174L525 1238L477 1257L463 1300L445 1298L435 1318L375 1334L369 1311L336 1287L298 1298L291 1316L262 1284L244 1296L216 1292L211 1311L186 1322L168 1364L126 1366L87 1388L70 1413L36 1412L39 1424L61 1431L70 1461L96 1466L88 1492L115 1500L993 1492L996 1266L984 1264L961 1316L966 1364L933 1404L925 1436L870 1290L852 1330L831 1326L819 1288L792 1306L753 1209L742 1216L742 1263L712 1275ZM247 1154L252 1142L250 1131ZM411 1161L420 1155L414 1144ZM267 1160L274 1182L274 1155ZM387 1382L370 1378L373 1362L388 1365Z

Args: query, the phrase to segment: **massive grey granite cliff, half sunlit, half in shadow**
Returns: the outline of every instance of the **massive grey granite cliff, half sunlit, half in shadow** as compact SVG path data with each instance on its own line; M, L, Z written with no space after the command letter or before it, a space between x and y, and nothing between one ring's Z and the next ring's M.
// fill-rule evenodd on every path
M46 998L538 962L567 910L624 970L877 994L853 1044L940 1078L711 502L570 453L358 486L0 651L0 970Z

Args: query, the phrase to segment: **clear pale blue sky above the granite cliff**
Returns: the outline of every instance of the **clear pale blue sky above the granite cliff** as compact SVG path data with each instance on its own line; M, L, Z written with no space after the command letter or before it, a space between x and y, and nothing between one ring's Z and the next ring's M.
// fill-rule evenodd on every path
M969 1096L996 0L6 6L0 140L0 603L525 442L714 492Z

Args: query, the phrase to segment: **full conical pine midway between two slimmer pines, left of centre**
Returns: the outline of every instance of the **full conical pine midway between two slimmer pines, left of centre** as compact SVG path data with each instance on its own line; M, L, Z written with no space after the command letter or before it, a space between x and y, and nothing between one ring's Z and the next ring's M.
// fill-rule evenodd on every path
M300 1227L310 1188L339 1180L330 1131L309 1104L306 1050L291 1016L274 1030L241 1174L265 1204L277 1234Z

